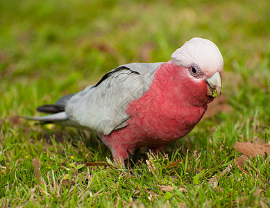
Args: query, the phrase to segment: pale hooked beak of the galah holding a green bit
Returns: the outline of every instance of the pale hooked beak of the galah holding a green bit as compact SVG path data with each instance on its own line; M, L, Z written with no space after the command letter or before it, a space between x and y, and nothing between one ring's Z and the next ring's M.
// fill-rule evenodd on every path
M205 80L208 87L208 95L217 97L221 95L222 81L219 72L214 73L213 76Z

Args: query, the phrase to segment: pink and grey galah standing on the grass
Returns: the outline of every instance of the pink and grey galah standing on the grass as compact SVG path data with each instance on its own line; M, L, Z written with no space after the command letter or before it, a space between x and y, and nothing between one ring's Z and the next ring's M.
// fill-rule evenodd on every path
M37 107L29 118L96 132L124 164L135 148L162 150L187 135L221 94L223 58L210 40L194 37L168 62L125 64L95 85Z

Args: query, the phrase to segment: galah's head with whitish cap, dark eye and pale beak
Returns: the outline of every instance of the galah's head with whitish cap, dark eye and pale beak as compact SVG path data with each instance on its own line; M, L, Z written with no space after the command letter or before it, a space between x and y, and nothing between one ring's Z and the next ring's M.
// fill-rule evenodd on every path
M177 49L171 59L178 67L185 68L194 82L204 82L208 96L214 98L221 94L223 58L213 42L194 37Z

